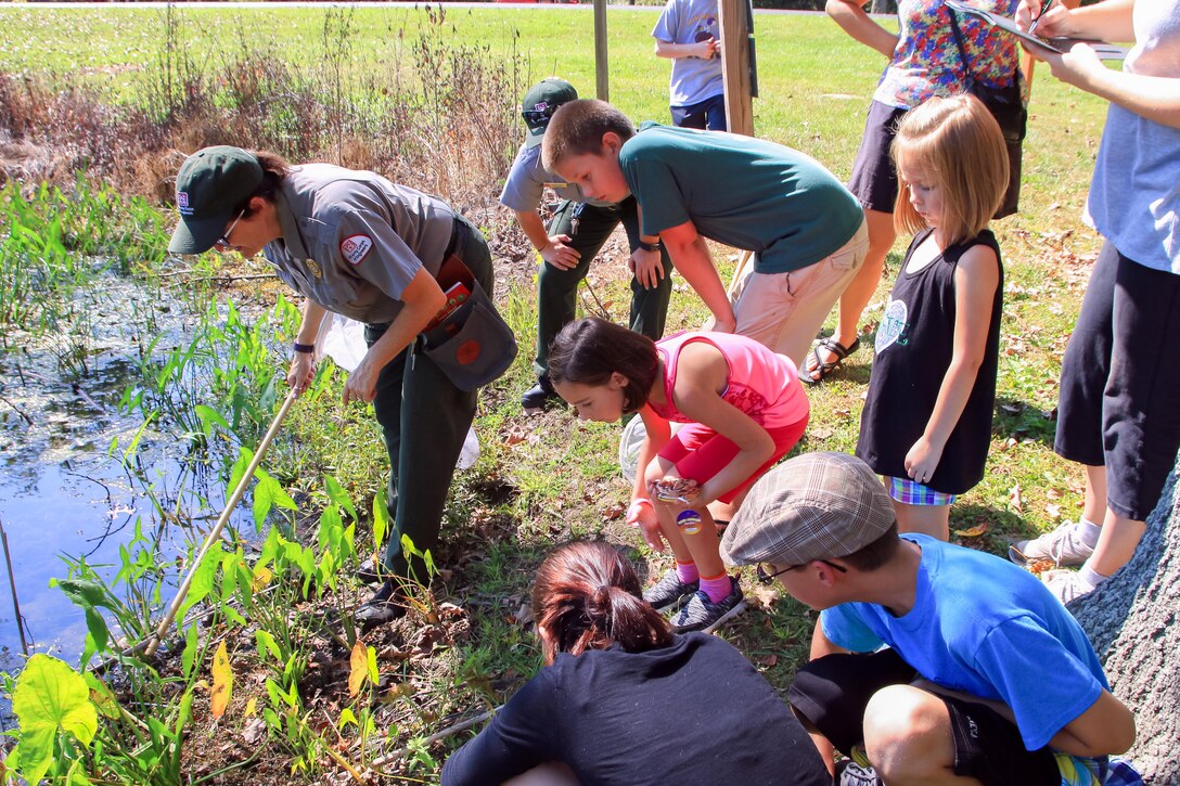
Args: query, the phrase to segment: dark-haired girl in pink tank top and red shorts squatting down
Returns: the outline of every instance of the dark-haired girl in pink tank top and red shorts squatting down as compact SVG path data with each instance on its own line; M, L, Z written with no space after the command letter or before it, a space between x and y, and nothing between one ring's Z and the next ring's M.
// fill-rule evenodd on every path
M627 520L655 551L667 543L676 558L644 600L675 613L680 631L710 631L741 611L741 587L726 572L708 505L736 509L799 441L809 406L794 363L741 335L689 332L655 343L590 317L553 340L549 373L583 419L643 419ZM673 434L670 423L686 426Z

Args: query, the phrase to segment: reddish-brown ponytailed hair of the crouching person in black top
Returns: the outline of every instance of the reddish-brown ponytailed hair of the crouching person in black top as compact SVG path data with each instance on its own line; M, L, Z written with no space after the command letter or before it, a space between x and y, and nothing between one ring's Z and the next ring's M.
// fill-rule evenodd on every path
M618 642L629 653L671 643L671 630L643 597L631 564L601 542L570 543L537 570L532 616L545 629L545 662Z

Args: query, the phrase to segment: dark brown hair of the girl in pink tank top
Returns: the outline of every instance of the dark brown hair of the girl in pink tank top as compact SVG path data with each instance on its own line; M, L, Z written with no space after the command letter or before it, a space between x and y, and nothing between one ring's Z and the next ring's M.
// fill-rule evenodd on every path
M651 339L597 316L570 322L549 347L553 382L605 385L615 372L625 376L624 412L638 412L648 402L658 371Z

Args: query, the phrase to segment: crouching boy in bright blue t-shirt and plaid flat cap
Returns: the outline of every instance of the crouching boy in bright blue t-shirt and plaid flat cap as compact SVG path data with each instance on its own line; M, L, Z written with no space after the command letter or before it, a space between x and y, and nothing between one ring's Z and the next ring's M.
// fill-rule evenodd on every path
M820 610L788 700L841 782L1056 786L1135 739L1081 625L1030 574L898 536L860 459L808 453L750 490L722 541ZM876 771L876 772L873 772Z

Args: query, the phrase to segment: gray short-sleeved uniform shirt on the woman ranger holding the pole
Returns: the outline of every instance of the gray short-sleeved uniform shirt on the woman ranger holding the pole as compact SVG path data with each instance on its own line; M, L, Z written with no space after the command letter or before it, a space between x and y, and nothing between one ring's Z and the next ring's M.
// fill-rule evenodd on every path
M440 199L373 172L291 168L275 194L280 240L263 248L289 287L360 322L391 322L420 268L433 276L454 231Z

